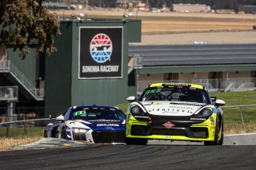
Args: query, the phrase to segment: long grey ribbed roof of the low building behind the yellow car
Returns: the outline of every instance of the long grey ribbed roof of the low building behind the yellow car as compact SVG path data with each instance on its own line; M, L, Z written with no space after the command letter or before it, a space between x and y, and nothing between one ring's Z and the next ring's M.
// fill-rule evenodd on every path
M256 64L256 44L130 45L143 66Z

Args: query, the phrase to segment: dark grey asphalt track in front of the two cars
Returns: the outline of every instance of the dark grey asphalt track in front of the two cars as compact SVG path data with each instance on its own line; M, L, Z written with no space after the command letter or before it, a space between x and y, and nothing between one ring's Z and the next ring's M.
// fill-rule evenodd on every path
M256 145L88 144L0 152L0 169L255 169Z

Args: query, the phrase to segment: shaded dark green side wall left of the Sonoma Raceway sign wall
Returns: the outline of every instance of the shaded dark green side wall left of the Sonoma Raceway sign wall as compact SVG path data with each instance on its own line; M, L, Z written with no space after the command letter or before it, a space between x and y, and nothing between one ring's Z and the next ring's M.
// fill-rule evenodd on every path
M62 113L71 105L72 24L62 22L57 52L46 57L45 116Z

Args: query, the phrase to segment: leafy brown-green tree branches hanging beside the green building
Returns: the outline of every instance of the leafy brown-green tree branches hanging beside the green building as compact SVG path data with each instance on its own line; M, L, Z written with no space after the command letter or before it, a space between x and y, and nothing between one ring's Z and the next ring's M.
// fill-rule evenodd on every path
M30 45L50 55L56 50L54 38L60 35L59 23L42 6L43 0L5 0L0 2L0 45L19 49L26 57Z

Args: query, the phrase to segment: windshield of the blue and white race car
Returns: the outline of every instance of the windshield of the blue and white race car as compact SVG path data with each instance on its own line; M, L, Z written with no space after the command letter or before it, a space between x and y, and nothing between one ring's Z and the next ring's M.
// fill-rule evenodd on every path
M110 108L83 108L75 109L73 113L73 120L84 121L97 121L97 120L111 120L111 121L123 121L126 119L126 115L118 109Z

